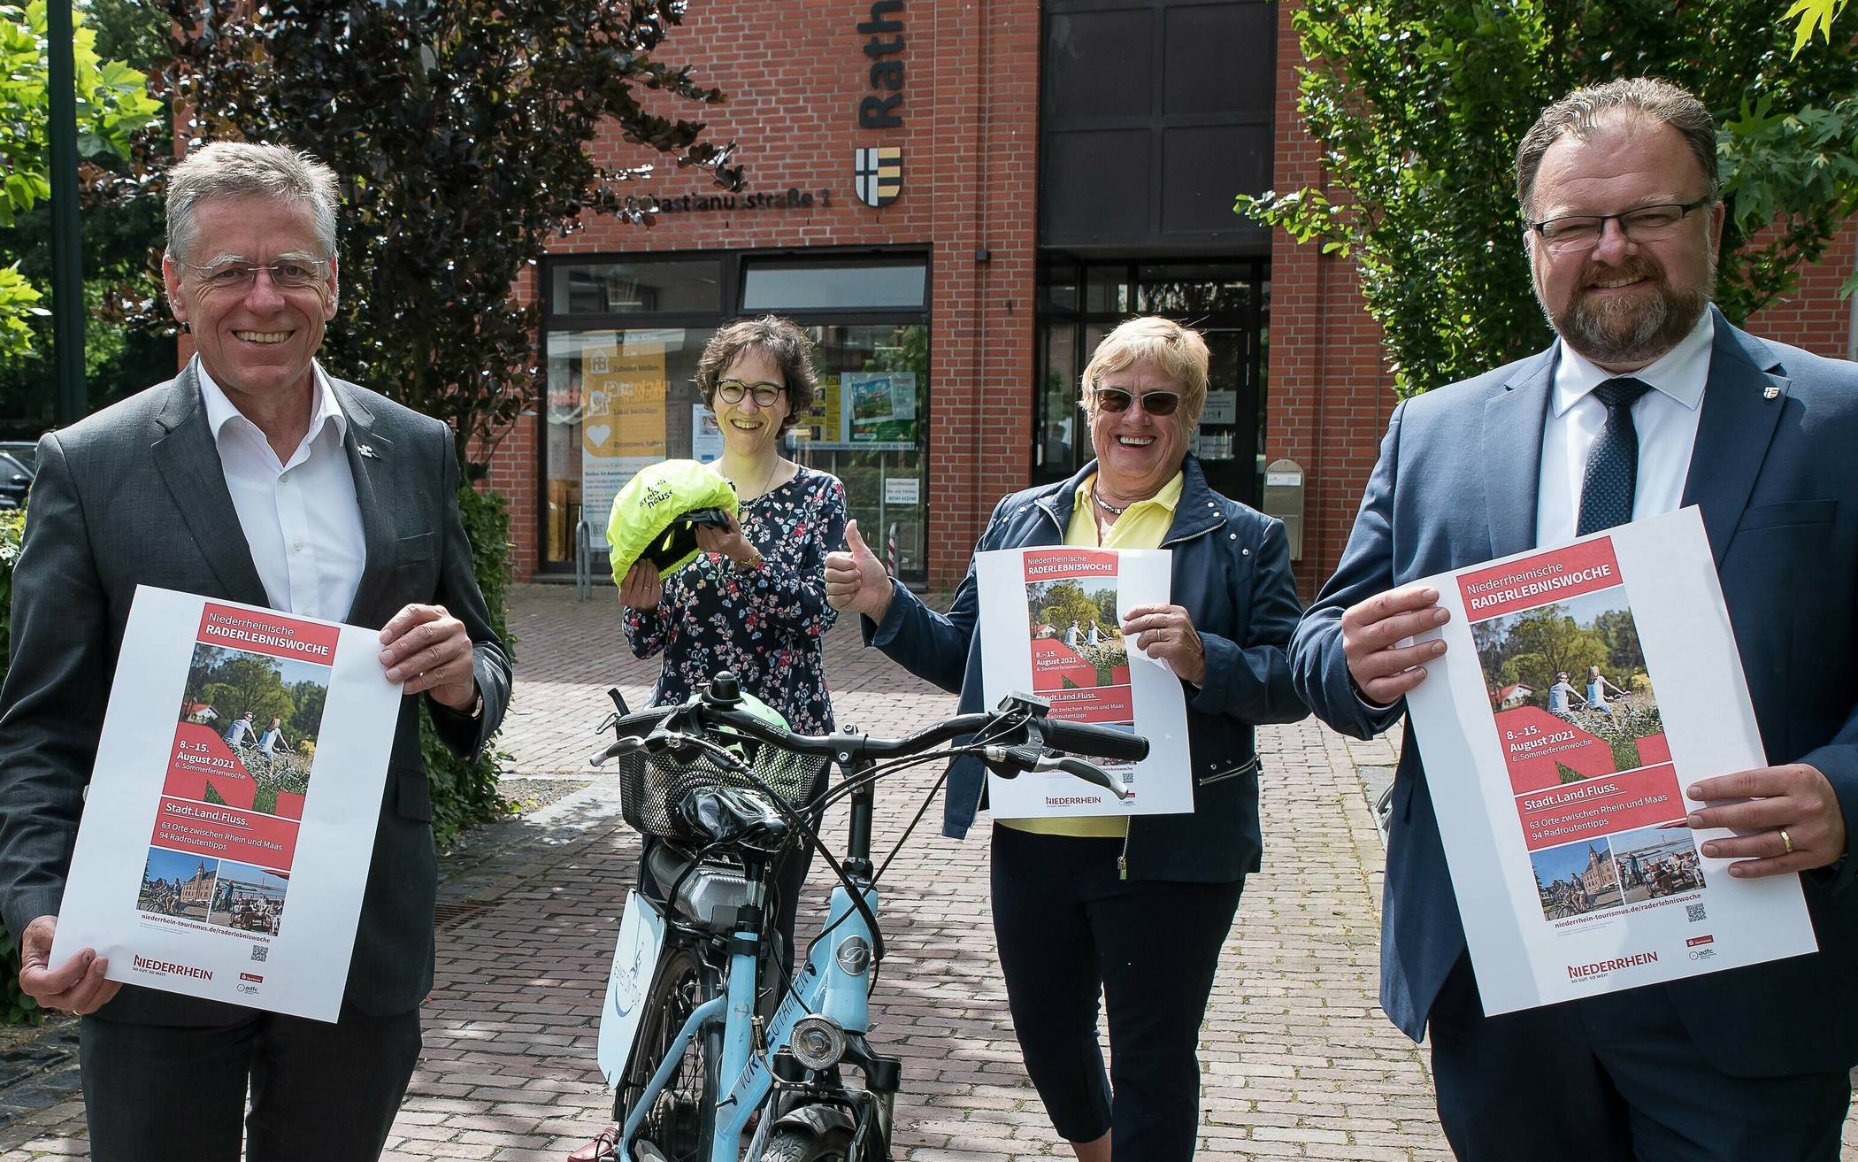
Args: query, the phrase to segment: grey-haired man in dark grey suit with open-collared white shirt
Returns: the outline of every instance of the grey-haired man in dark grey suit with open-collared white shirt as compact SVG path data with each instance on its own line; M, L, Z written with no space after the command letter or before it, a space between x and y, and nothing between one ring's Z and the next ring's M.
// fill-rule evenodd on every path
M459 755L509 699L451 431L316 364L336 309L334 212L334 175L288 149L217 143L175 165L162 268L199 355L39 441L0 688L0 915L20 985L84 1013L100 1162L232 1160L242 1134L255 1160L379 1156L433 980L414 695ZM407 697L334 1024L119 991L91 950L48 963L137 584L383 627L381 664Z

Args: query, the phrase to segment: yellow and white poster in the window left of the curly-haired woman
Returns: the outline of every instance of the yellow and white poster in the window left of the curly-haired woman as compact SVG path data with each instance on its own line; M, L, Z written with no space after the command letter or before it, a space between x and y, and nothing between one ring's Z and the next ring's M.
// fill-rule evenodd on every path
M582 519L604 541L613 496L665 459L665 344L626 335L582 348Z

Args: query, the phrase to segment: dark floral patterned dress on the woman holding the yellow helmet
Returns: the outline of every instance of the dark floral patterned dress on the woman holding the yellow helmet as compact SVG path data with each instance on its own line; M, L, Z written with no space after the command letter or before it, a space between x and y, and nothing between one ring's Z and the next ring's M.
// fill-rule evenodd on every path
M801 465L736 517L762 554L760 567L697 554L665 578L656 610L624 610L626 641L639 658L665 654L654 705L682 701L732 669L793 733L825 734L832 729L825 632L838 621L825 602L825 554L845 543L845 485Z

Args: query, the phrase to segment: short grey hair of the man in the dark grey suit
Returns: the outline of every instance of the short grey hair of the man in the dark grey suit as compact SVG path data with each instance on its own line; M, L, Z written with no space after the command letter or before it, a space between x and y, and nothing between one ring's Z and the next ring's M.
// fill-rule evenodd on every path
M221 197L275 197L308 203L316 216L316 242L336 253L336 173L307 152L282 145L214 141L167 171L167 253L184 260L199 242L193 218L203 201Z

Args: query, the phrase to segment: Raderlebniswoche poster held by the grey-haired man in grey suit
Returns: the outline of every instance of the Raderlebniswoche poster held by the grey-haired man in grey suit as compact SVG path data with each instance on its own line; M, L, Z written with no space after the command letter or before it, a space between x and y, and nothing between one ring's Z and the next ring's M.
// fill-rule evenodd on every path
M399 688L379 630L136 589L52 963L334 1021Z

